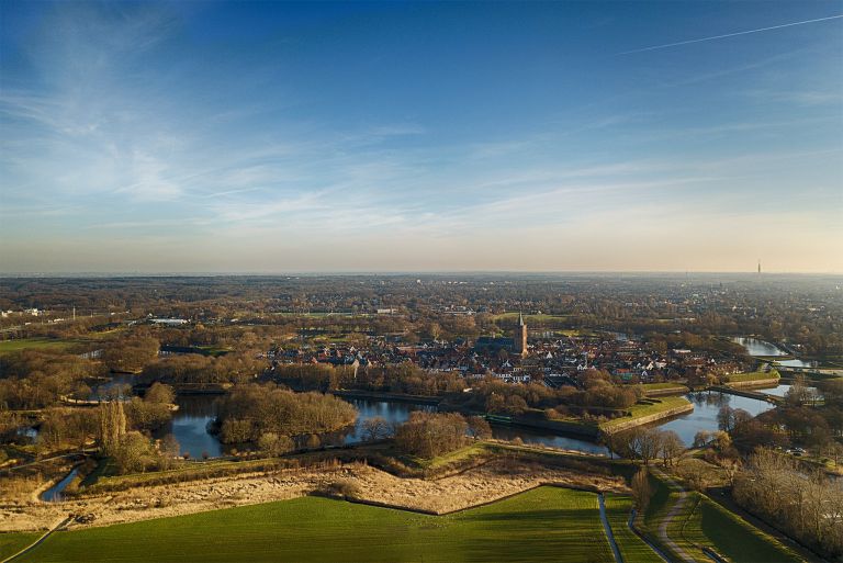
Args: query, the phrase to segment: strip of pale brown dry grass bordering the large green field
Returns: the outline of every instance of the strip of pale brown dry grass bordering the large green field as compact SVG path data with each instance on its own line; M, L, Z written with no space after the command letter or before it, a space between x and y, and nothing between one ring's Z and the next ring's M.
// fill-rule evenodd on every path
M283 500L324 491L338 478L353 483L358 498L391 506L448 513L490 503L542 483L626 492L622 478L512 461L492 461L440 480L401 478L364 464L324 470L282 470L200 482L134 488L64 503L0 505L0 531L42 529L69 513L93 514L92 526L161 518L231 506ZM72 525L81 527L82 525Z

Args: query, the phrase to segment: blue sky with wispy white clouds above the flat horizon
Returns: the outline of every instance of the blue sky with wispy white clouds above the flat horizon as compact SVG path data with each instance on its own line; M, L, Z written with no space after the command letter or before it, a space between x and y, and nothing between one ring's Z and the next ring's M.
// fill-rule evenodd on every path
M843 271L841 1L0 12L0 272Z

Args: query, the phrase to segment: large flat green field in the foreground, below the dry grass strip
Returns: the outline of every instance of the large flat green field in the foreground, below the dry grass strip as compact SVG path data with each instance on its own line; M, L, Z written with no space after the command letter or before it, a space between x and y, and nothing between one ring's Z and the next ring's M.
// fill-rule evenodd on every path
M303 497L58 532L21 561L606 563L612 555L593 493L540 487L449 516Z

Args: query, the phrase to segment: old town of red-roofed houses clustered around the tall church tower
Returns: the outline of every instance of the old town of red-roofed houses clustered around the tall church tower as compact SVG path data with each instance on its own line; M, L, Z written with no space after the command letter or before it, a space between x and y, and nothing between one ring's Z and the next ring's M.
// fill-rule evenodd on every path
M509 337L480 337L475 341L429 341L402 345L387 337L373 337L368 345L335 344L321 347L289 347L269 350L273 363L329 363L349 367L413 364L430 372L453 372L465 379L496 376L510 383L540 381L557 387L573 383L576 375L594 369L617 383L651 383L723 375L741 371L728 358L705 352L672 349L659 352L626 335L531 337L524 318Z

